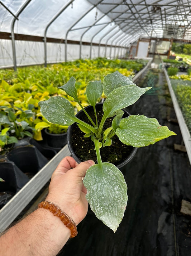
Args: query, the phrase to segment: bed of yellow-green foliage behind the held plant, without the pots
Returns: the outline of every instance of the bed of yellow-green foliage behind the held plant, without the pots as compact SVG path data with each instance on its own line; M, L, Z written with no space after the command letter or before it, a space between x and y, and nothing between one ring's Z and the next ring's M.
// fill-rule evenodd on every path
M64 91L58 89L65 84L71 76L78 81L76 83L78 97L83 107L89 105L85 93L87 82L90 80L103 80L104 76L118 70L125 76L134 75L142 69L147 61L145 60L109 60L97 58L94 60L76 60L73 62L49 64L47 68L43 66L32 66L13 69L0 70L0 133L6 127L10 127L8 122L9 111L14 113L17 120L23 120L23 111L27 111L24 120L28 126L33 127L33 137L41 140L41 130L51 124L41 116L38 102L47 100L51 96L61 95L70 100L76 109L80 109ZM104 97L104 95L102 95ZM28 114L30 112L30 115ZM25 112L24 112L25 113ZM6 118L5 118L6 116ZM6 121L6 122L5 122ZM10 121L10 120L9 120ZM25 123L25 126L27 124ZM23 129L26 129L23 127ZM7 131L6 136L13 136L15 127ZM10 134L11 132L11 134ZM18 138L19 139L19 138Z

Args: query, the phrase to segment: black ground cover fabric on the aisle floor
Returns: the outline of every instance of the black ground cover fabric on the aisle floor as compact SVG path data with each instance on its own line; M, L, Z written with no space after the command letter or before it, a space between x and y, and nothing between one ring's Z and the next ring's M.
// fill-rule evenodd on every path
M164 84L160 71L159 83ZM139 148L121 168L128 185L128 204L114 234L89 209L58 255L70 256L187 256L191 255L191 217L180 213L181 201L191 202L191 167L187 153L175 151L182 136L168 89L143 95L127 108L131 114L155 117L177 136Z

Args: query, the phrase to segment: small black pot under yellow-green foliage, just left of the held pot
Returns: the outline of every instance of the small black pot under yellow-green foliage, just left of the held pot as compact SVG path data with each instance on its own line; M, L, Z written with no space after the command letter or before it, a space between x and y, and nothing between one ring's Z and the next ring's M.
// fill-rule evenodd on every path
M47 129L45 129L44 132L46 134L47 144L49 145L49 147L53 147L58 151L66 145L67 133L53 134L49 133Z

